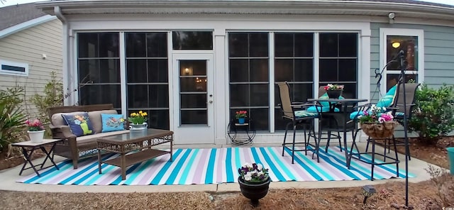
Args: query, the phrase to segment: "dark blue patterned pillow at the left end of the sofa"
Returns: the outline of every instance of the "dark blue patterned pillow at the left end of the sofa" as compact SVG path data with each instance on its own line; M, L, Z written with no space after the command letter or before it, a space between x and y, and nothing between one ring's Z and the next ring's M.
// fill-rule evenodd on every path
M70 126L71 133L75 136L86 136L94 134L92 122L88 117L88 113L82 114L62 114L68 126Z

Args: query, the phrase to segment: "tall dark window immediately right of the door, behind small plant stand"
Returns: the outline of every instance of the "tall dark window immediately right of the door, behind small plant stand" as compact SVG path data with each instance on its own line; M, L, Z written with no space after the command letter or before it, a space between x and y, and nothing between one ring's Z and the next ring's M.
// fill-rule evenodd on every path
M228 33L230 117L247 110L255 129L269 131L268 33Z

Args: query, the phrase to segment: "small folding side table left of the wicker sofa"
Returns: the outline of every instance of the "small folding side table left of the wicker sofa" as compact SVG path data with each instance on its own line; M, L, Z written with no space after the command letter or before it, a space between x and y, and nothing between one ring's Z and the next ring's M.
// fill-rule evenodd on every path
M57 142L59 142L61 140L62 139L43 139L43 142L41 142L41 143L31 143L31 141L28 140L28 141L23 141L23 142L18 142L18 143L11 144L13 146L20 147L22 149L23 158L26 159L26 162L23 163L23 166L22 166L21 172L19 172L19 175L22 175L23 170L27 170L27 169L33 168L33 170L35 171L36 175L38 175L38 177L41 177L41 175L38 172L38 170L36 170L37 166L41 166L39 170L43 170L45 168L52 167L52 166L55 166L57 168L57 170L60 170L60 168L58 168L57 164L55 164L55 162L54 162L54 153L53 152L54 152L54 149L55 149L55 145L57 145ZM46 145L52 145L50 147L49 151L45 149ZM38 165L33 165L33 162L31 162L31 158L32 158L33 152L36 149L40 149L41 151L43 151L43 153L45 153L46 157L44 158L43 163L40 163ZM50 155L50 154L52 154L52 155ZM45 162L48 159L50 160L50 162L52 162L53 165L50 165L48 167L44 167ZM29 163L31 166L30 167L26 167L27 163Z

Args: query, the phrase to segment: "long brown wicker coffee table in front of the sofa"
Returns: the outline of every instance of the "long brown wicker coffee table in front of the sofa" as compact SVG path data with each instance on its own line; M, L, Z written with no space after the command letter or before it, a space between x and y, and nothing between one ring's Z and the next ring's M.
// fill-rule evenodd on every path
M121 178L124 180L126 179L126 167L130 165L165 154L170 154L170 161L172 161L172 138L173 131L153 128L130 131L130 133L123 135L98 138L96 142L98 143L99 174L102 173L102 163L121 167ZM170 143L170 151L152 149L153 146L162 143ZM118 153L120 157L102 160L101 153L103 152Z

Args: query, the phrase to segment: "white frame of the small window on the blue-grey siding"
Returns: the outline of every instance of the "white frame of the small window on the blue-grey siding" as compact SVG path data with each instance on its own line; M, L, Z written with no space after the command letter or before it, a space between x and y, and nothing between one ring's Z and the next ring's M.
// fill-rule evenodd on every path
M418 38L418 69L409 71L406 74L416 74L418 83L423 83L424 79L424 31L421 29L408 29L408 28L380 28L380 69L386 65L387 54L387 36L388 35L406 35L416 36ZM383 71L383 78L387 78L387 74L400 74L400 70L387 70ZM387 79L383 79L381 92L386 92Z

